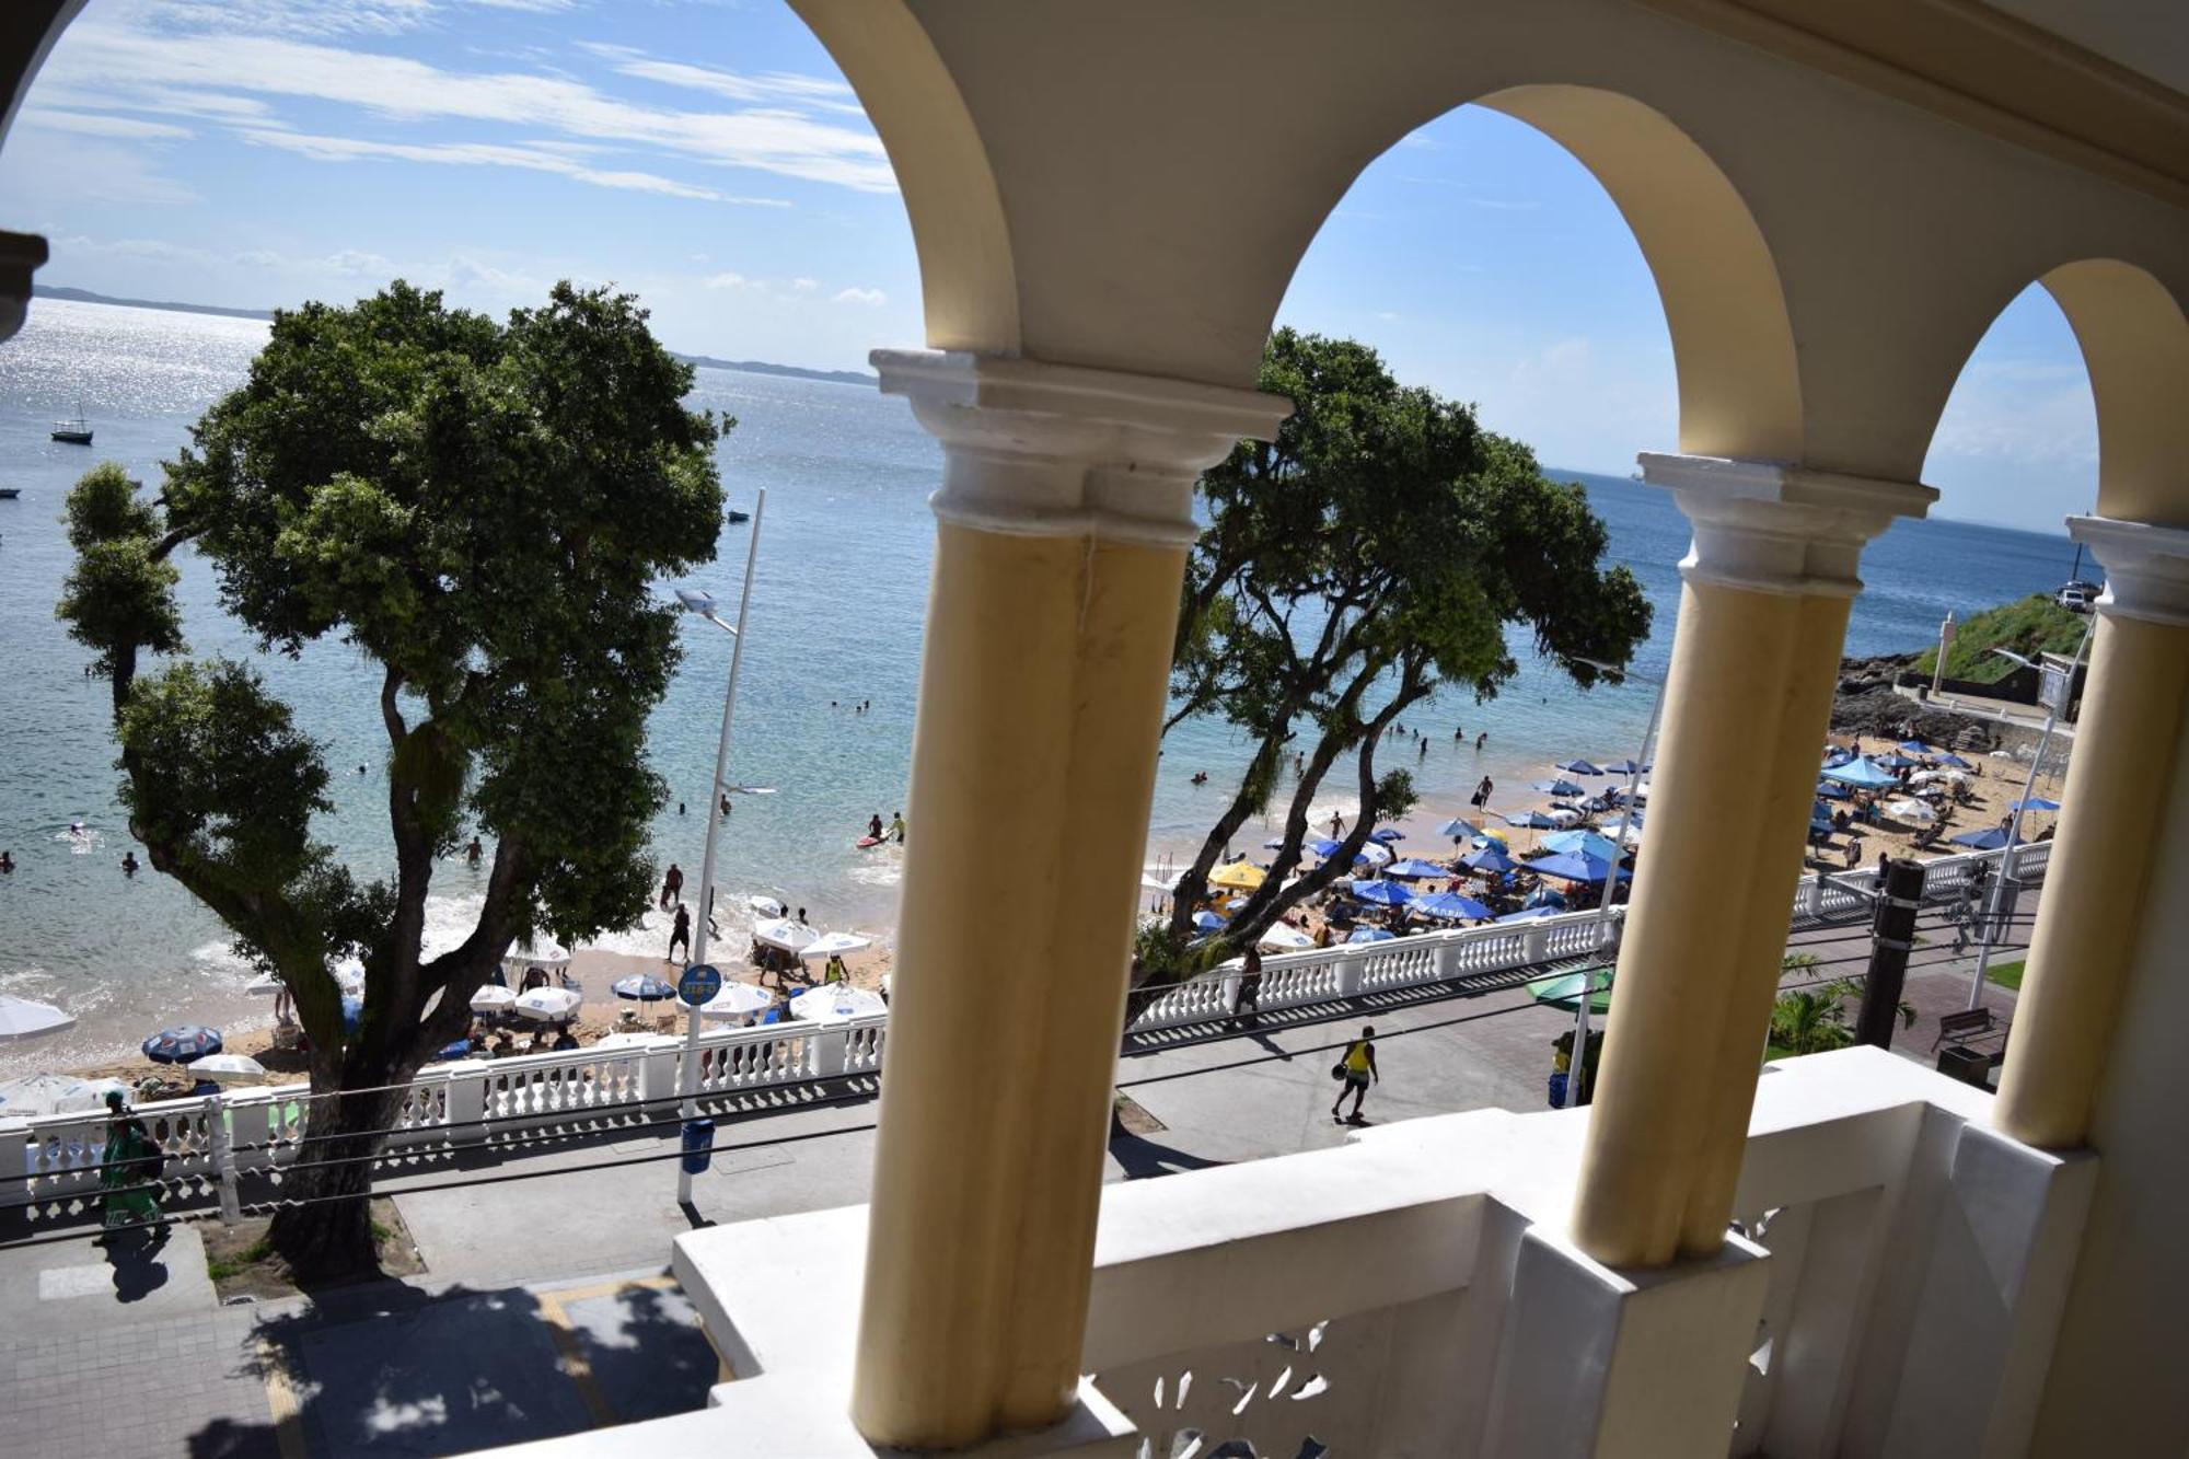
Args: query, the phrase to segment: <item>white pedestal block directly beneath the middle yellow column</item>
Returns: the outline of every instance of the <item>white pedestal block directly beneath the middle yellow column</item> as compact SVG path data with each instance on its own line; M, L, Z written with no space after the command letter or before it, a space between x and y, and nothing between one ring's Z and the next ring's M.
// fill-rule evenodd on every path
M1521 1238L1482 1452L1723 1455L1769 1288L1738 1236L1707 1257L1613 1271L1534 1227Z

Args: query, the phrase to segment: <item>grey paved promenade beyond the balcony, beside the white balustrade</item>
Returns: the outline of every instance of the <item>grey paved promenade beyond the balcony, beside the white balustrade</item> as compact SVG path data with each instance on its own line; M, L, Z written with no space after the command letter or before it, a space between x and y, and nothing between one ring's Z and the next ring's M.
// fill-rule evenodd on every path
M1937 1016L1968 999L1972 957L1953 957L1937 914L1920 933L1907 984L1918 1025L1896 1034L1896 1049L1929 1065ZM1850 975L1863 970L1867 931L1808 929L1788 946L1821 966L1786 981ZM1999 962L2018 957L2010 949ZM2012 1019L2012 992L1988 988L1985 1001ZM1524 990L1401 990L1134 1054L1119 1084L1162 1128L1116 1130L1108 1176L1342 1141L1329 1067L1362 1023L1377 1030L1383 1082L1366 1117L1381 1124L1543 1108L1550 1041L1572 1016ZM90 1240L0 1247L7 1450L447 1455L703 1406L714 1354L663 1275L670 1240L694 1222L865 1200L873 1113L871 1095L852 1091L725 1119L716 1141L727 1150L698 1176L692 1209L676 1205L674 1161L659 1159L674 1130L604 1128L407 1163L379 1190L394 1194L429 1275L311 1301L219 1306L190 1227L155 1253ZM600 1170L609 1161L624 1163Z

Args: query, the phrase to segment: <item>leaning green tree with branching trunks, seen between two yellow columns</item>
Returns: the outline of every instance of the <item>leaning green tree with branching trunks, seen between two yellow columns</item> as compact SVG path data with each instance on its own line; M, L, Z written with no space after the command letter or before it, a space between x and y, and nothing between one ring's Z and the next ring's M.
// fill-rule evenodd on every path
M1495 697L1517 670L1508 624L1594 683L1580 659L1624 662L1651 620L1633 574L1600 565L1605 524L1580 486L1545 480L1469 405L1401 386L1364 344L1289 329L1270 337L1259 386L1294 414L1202 475L1208 530L1186 565L1167 725L1213 714L1254 754L1180 878L1173 940L1294 756L1283 843L1230 920L1235 942L1322 892L1377 822L1414 804L1403 769L1377 769L1383 732L1447 686ZM1337 854L1285 887L1333 771L1351 776L1362 813Z

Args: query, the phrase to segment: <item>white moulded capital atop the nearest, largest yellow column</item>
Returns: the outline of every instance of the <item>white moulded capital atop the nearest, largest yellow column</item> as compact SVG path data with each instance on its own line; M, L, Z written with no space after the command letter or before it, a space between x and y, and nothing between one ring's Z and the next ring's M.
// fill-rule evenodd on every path
M1292 401L1158 375L963 351L873 351L943 443L943 521L1018 537L1094 535L1180 545L1200 535L1193 482Z

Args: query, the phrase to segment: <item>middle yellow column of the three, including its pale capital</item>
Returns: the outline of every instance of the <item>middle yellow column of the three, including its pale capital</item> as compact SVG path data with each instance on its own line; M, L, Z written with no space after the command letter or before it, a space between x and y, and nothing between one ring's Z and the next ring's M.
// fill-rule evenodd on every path
M1775 462L1642 464L1694 548L1574 1203L1574 1240L1613 1266L1725 1238L1854 565L1935 497Z

